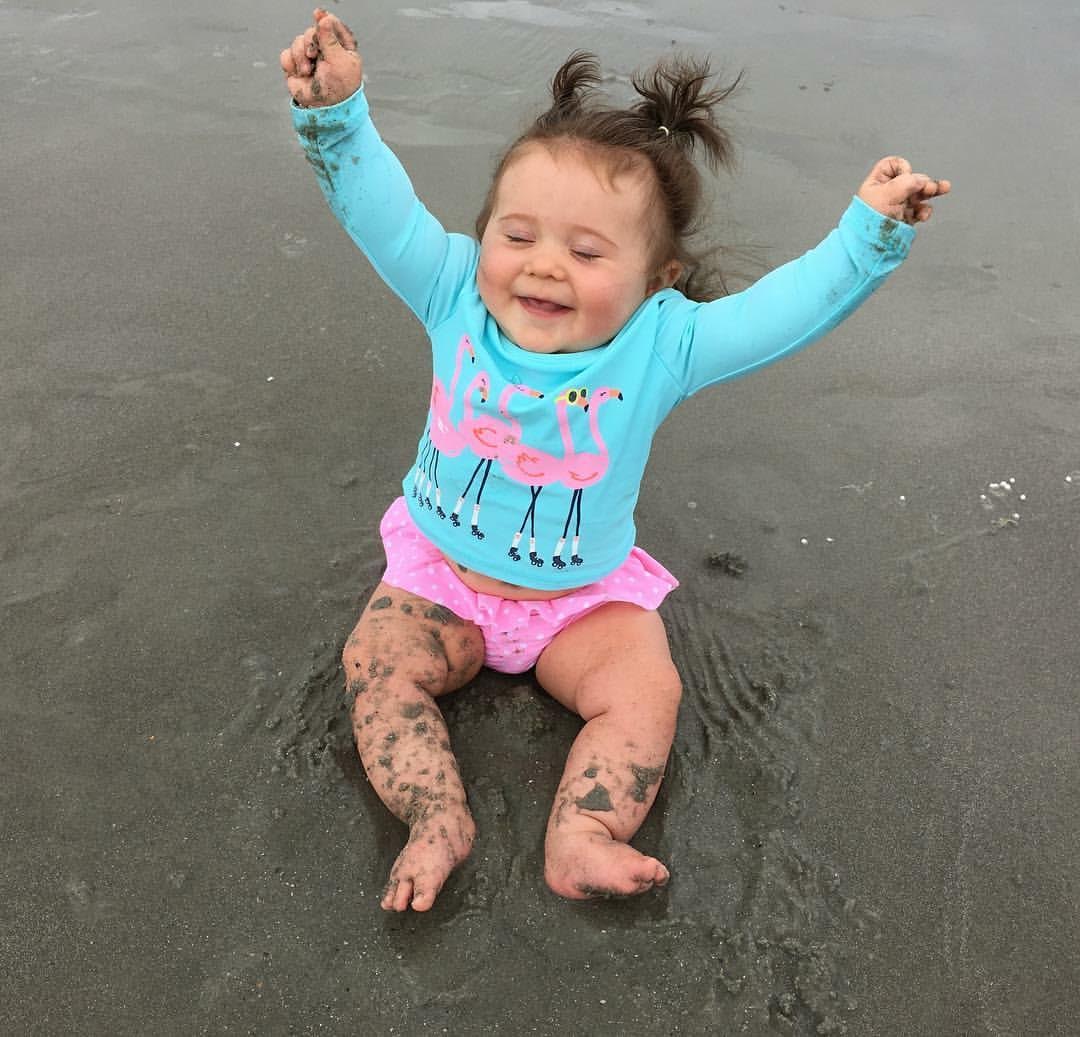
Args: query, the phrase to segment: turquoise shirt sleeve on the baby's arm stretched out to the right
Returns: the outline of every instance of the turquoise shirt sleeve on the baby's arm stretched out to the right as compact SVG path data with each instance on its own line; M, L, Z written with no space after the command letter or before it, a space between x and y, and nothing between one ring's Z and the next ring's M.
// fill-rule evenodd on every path
M750 374L821 338L904 260L915 229L858 198L815 248L743 292L712 302L663 300L657 351L684 399Z

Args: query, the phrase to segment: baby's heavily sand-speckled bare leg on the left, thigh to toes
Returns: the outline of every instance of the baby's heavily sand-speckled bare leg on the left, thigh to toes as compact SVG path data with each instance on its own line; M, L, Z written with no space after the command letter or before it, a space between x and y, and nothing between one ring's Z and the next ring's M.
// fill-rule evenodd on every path
M428 911L476 835L434 699L468 684L484 635L427 598L380 583L346 643L356 750L379 798L409 826L390 872L387 911Z

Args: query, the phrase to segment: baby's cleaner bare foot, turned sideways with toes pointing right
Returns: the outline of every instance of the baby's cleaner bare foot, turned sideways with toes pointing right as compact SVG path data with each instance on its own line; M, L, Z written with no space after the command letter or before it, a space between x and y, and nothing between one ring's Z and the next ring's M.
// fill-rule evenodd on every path
M570 900L633 897L667 883L667 868L660 861L616 841L594 823L593 831L548 831L544 878L553 892Z

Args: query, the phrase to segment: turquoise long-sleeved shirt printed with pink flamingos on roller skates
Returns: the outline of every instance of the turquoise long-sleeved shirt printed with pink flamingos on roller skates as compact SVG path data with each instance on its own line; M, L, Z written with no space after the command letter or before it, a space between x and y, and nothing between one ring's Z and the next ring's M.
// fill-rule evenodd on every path
M431 339L428 422L403 482L414 521L461 565L537 590L618 568L672 409L835 327L915 234L855 198L820 245L743 292L696 302L663 289L605 346L532 353L488 313L480 244L448 233L416 197L363 91L328 108L294 105L293 120L335 216Z

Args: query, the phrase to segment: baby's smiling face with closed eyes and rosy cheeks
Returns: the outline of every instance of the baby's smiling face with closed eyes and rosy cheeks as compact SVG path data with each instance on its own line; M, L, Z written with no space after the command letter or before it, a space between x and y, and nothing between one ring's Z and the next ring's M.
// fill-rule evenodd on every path
M503 334L535 353L615 338L665 286L650 269L650 197L644 173L612 180L572 146L527 146L502 173L476 274Z

